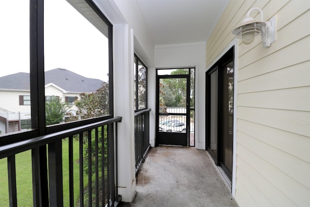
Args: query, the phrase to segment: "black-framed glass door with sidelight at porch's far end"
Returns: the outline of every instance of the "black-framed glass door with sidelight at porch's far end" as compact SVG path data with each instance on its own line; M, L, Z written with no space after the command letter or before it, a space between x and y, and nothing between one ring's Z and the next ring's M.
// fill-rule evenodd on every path
M157 73L157 145L189 146L194 144L194 141L190 139L194 138L194 117L191 118L194 111L190 108L190 69L186 69L178 69L172 75L158 75Z

